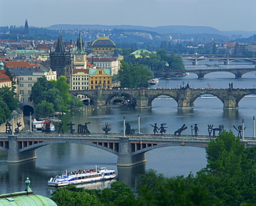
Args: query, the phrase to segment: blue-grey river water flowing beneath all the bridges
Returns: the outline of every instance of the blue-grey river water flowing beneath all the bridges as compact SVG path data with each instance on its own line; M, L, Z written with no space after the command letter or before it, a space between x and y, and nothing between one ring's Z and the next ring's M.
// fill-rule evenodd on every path
M200 62L201 63L201 62ZM209 64L214 64L209 62ZM239 64L239 63L237 63ZM244 64L244 63L243 63ZM185 63L187 68L192 68L191 63ZM221 65L223 66L223 65ZM230 65L232 66L232 65ZM237 66L237 65L236 65ZM241 67L254 65L241 65ZM193 66L194 67L194 66ZM197 65L205 68L205 65ZM234 74L216 72L205 75L205 79L197 79L196 74L176 77L170 80L161 79L158 85L150 87L176 88L189 83L194 88L225 88L233 83L234 88L255 88L256 72L244 74L242 79L235 79ZM218 127L220 124L225 130L232 130L237 135L233 125L241 125L242 119L246 127L245 136L253 136L253 116L256 115L256 96L245 96L239 102L239 110L223 110L223 104L214 96L205 95L196 99L194 110L177 110L177 103L167 96L161 96L153 101L152 108L138 110L122 105L113 105L107 109L96 109L93 106L84 107L81 110L67 112L59 116L64 125L66 123L84 124L90 122L90 132L102 132L102 127L108 123L113 133L122 133L122 120L125 116L131 128L138 132L138 114L140 115L140 132L153 133L153 127L149 124L167 123L167 134L174 134L185 123L188 129L182 134L191 134L191 125L198 124L199 134L208 134L208 124ZM76 126L75 126L76 129ZM66 132L67 127L64 127ZM117 156L86 145L77 144L53 144L46 145L36 150L37 160L19 164L8 164L6 159L0 161L0 194L18 192L25 189L26 177L30 178L30 187L35 194L51 196L52 187L48 187L47 181L51 176L62 174L65 169L77 170L95 168L95 165L106 166L118 171L118 180L124 181L131 187L138 182L138 175L145 174L147 169L155 169L166 177L184 175L190 172L196 174L205 167L205 149L196 147L165 147L151 150L146 153L147 162L135 167L117 167ZM82 185L85 188L109 187L110 183Z

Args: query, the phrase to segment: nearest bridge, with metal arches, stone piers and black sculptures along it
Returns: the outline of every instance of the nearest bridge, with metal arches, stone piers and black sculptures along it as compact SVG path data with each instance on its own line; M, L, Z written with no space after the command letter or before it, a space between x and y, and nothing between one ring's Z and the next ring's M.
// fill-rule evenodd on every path
M46 134L44 132L21 132L17 135L0 135L0 150L8 153L8 163L20 163L37 158L35 150L55 143L76 143L106 150L118 156L118 166L131 166L146 161L145 152L161 147L206 147L209 136L172 136L132 134ZM241 140L246 146L256 145L254 138Z

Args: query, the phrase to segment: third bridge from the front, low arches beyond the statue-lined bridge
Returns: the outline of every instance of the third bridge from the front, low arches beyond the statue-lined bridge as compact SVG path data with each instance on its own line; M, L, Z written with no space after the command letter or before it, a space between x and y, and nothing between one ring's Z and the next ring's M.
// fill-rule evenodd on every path
M204 79L205 74L209 74L212 72L230 72L235 74L236 79L241 79L243 74L247 72L255 72L256 68L214 68L214 69L192 69L192 70L184 70L183 72L190 72L197 74L198 79ZM172 76L173 74L181 72L181 71L170 71L170 72L163 72L163 71L155 71L155 76Z

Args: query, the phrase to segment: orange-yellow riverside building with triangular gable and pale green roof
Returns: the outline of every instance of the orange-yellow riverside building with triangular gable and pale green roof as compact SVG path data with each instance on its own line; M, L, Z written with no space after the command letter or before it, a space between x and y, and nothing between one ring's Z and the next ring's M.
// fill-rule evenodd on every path
M90 69L89 70L90 90L109 89L112 87L111 69Z

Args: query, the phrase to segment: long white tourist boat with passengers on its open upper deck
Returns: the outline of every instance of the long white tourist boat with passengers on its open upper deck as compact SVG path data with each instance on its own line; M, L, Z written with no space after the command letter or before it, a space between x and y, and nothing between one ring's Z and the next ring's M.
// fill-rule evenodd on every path
M48 181L48 185L53 187L62 187L66 185L105 181L113 179L115 177L115 170L106 169L106 167L96 166L95 169L84 169L75 172L65 172L60 176L52 177Z

